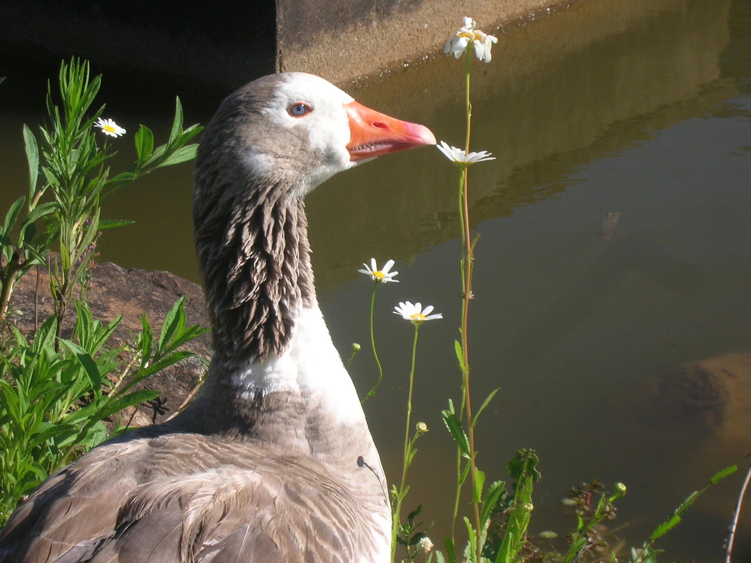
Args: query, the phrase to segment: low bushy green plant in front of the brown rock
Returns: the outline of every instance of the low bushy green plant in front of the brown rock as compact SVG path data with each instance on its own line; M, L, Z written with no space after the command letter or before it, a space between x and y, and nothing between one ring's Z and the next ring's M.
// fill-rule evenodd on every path
M164 318L157 342L143 315L132 346L107 344L122 316L102 324L81 302L62 351L54 346L54 316L33 342L11 327L13 342L0 356L0 525L47 475L128 428L118 418L108 433L105 419L159 395L135 385L195 355L178 348L207 329L185 326L184 301Z

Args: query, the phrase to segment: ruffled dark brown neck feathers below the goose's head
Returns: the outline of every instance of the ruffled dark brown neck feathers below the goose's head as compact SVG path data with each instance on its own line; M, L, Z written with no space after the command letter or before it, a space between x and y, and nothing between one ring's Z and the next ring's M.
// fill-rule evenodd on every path
M279 183L245 183L203 182L193 212L215 354L235 366L282 354L315 300L303 200Z

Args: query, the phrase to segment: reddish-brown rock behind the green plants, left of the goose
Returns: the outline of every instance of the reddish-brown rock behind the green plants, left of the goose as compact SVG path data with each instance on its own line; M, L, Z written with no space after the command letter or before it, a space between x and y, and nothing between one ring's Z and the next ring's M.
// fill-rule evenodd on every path
M118 346L133 341L131 333L137 334L141 327L141 316L151 324L155 339L161 330L164 315L175 301L185 295L185 317L187 324L209 326L209 317L204 302L204 291L194 284L170 272L146 271L143 269L123 269L110 262L97 263L92 271L92 287L86 297L95 318L109 323L118 315L122 321L108 342ZM11 315L9 320L16 324L26 336L32 336L35 330L34 302L37 275L35 269L23 276L17 284L11 299L11 310L20 309L21 315ZM50 294L50 280L47 270L40 268L38 318L39 323L53 313ZM70 334L75 324L75 310L71 306L63 321L63 335ZM189 342L184 347L201 357L210 359L211 336L209 333ZM189 395L196 381L204 375L206 367L197 357L182 360L174 366L162 370L152 378L146 379L140 387L161 390L161 396L155 402L140 407L131 424L142 426L146 423L158 423L169 417ZM132 412L125 413L130 417ZM127 421L127 419L126 419Z

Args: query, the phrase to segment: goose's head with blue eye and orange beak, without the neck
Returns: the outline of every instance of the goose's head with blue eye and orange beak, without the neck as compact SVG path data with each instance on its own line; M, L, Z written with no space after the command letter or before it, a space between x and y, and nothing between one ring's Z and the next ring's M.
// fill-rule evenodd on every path
M282 73L255 80L222 102L204 132L197 170L219 156L224 170L237 168L304 196L364 161L434 144L424 125L358 104L321 77Z

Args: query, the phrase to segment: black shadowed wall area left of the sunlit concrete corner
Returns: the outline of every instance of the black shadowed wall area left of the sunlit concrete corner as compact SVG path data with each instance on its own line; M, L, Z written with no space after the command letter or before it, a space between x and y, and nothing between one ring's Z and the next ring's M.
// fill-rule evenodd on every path
M4 0L0 52L226 93L276 69L276 2Z

